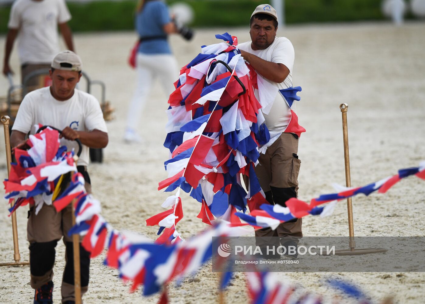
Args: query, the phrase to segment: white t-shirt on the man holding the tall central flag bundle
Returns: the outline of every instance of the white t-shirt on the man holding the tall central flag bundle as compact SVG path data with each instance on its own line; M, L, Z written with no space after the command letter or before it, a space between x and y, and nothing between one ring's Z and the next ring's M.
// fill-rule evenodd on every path
M278 90L287 89L292 87L292 69L294 66L295 51L292 43L286 37L276 37L275 41L268 48L263 50L253 50L251 47L251 41L244 42L238 45L238 48L248 53L254 54L269 62L282 63L289 69L289 75L283 82L277 83L265 79L260 74L261 78L273 84ZM258 93L258 92L257 92ZM258 96L256 96L258 98ZM292 105L292 110L295 110L295 104ZM289 106L286 104L282 95L278 93L275 101L273 102L272 108L269 115L264 115L266 119L266 126L270 132L283 132L289 124L291 118L291 111Z

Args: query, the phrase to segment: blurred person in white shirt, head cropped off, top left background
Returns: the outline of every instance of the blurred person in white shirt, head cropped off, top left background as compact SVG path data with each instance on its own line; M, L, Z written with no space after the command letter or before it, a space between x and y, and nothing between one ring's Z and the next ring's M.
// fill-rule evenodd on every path
M34 70L50 68L59 52L58 25L68 50L74 51L69 20L71 14L65 0L16 0L9 16L3 74L13 74L9 59L18 34L21 82ZM28 82L28 86L36 84L37 79Z

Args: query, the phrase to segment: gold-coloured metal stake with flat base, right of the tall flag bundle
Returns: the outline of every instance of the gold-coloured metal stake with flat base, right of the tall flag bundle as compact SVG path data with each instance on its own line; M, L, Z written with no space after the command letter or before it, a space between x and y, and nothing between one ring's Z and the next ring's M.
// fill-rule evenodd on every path
M347 127L347 110L348 104L340 104L340 110L343 116L343 138L344 138L344 160L346 171L346 186L351 187L350 177L350 155L348 153L348 127ZM350 240L348 245L350 249L335 250L337 256L351 256L366 253L378 253L388 251L385 248L356 248L354 241L354 224L353 224L353 206L351 205L351 197L347 198L347 211L348 211L348 232Z

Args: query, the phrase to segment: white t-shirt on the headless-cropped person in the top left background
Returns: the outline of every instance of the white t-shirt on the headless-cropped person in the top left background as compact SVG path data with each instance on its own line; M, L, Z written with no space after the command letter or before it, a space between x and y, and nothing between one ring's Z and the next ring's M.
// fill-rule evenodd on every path
M18 53L21 64L51 63L59 53L58 23L71 20L65 0L16 0L8 28L19 29Z

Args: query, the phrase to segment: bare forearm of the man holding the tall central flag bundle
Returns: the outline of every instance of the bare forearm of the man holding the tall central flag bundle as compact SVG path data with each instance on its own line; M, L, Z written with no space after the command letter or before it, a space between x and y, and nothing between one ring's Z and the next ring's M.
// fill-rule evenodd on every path
M272 82L283 82L283 80L285 80L289 75L289 69L281 63L261 59L260 57L246 51L241 51L241 54L244 59L249 62L252 68L254 68L261 76L271 80Z

